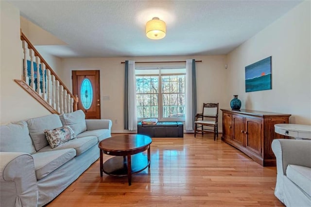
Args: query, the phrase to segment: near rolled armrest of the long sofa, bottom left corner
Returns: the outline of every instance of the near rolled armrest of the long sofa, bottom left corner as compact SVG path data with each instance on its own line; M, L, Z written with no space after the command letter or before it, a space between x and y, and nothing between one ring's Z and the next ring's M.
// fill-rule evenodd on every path
M0 206L36 206L37 179L32 155L0 152Z

